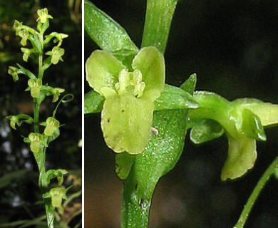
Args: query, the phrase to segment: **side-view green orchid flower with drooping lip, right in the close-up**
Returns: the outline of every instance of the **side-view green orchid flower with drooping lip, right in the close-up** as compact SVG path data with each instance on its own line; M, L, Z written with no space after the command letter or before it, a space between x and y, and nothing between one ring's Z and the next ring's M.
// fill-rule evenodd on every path
M264 127L278 124L278 105L254 99L230 102L205 91L195 92L193 98L200 108L189 111L192 142L206 142L225 132L229 149L221 179L242 177L257 159L256 140L267 140Z

